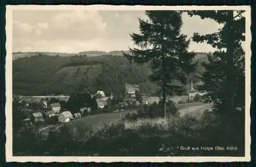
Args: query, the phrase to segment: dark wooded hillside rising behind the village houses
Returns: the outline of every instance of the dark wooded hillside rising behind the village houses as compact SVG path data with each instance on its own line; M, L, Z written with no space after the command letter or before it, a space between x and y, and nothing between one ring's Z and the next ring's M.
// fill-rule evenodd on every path
M205 60L205 55L198 57ZM203 71L199 65L199 71ZM150 68L131 64L124 57L104 56L38 56L13 60L13 94L42 96L70 94L82 89L92 93L124 92L124 84L139 84L152 94L156 85L148 80ZM195 78L195 82L198 80Z

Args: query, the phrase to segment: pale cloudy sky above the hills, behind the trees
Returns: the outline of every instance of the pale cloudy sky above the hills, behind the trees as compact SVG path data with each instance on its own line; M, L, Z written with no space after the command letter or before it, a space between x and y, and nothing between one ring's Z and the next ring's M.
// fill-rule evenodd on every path
M66 52L128 50L129 33L139 32L144 11L14 10L13 52ZM211 19L183 14L181 32L216 32L222 25ZM191 42L189 51L215 51L209 44Z

